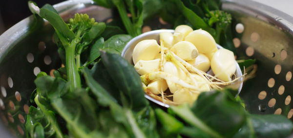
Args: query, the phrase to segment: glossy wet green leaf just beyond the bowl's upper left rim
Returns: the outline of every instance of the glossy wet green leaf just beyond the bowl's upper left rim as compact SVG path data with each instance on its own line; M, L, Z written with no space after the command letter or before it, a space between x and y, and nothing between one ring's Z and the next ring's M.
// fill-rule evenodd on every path
M110 51L121 54L125 45L132 39L129 35L115 35L105 41L105 47Z

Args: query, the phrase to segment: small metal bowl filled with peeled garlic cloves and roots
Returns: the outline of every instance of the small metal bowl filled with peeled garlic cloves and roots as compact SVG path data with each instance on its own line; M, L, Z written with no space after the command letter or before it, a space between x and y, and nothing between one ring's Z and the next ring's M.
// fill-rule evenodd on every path
M126 44L122 57L141 76L146 99L165 107L191 104L212 89L230 87L239 94L243 85L233 52L188 25L139 35Z

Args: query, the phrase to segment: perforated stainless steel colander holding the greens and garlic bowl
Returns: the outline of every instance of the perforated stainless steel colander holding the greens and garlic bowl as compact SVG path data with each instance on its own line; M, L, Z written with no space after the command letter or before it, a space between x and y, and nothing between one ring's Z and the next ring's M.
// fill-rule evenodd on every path
M70 0L54 5L64 20L87 13L97 21L110 21L110 9L91 0ZM239 57L257 60L256 76L243 85L240 96L255 114L293 116L293 17L250 0L223 0L231 13L233 42ZM54 29L45 22L33 25L28 17L0 36L0 137L25 137L29 99L40 71L52 74L62 66ZM162 19L146 21L143 32L171 26Z

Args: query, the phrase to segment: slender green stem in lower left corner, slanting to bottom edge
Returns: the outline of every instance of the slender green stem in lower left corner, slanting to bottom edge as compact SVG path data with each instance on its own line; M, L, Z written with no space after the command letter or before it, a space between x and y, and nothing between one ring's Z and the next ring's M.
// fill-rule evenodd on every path
M57 136L58 138L64 138L64 137L63 137L63 134L62 134L62 131L61 131L61 129L59 128L59 126L58 126L58 124L57 124L57 120L56 120L55 116L52 115L53 112L50 113L50 111L47 110L47 109L45 108L45 106L39 102L39 99L38 99L38 98L39 98L39 95L37 95L37 96L35 97L35 102L36 102L36 104L38 105L38 107L42 110L42 112L45 114L45 116L48 118L50 124L52 125L52 127L54 128L54 130L55 130L55 132L56 132L56 136Z

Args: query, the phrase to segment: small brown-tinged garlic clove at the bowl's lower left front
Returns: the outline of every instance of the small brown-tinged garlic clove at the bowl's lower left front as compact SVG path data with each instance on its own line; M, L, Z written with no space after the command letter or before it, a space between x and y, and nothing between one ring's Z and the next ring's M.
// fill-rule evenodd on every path
M156 79L147 85L147 89L155 95L161 94L161 92L166 91L167 88L168 85L165 79Z

